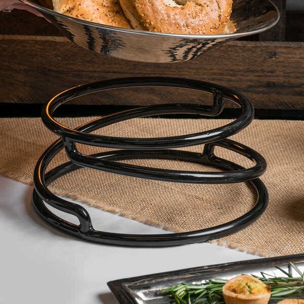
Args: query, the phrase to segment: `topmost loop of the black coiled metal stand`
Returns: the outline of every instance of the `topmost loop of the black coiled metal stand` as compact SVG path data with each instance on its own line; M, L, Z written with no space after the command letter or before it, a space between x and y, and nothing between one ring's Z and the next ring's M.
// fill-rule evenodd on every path
M74 98L109 89L146 86L177 87L209 92L213 94L213 106L209 107L201 104L161 104L137 107L135 109L125 110L98 118L95 120L96 124L91 125L90 127L88 126L88 128L83 132L65 127L58 123L53 117L53 112L56 108ZM223 109L223 98L231 99L237 103L242 108L242 115L234 122L214 130L198 132L195 134L157 138L127 138L87 134L101 127L115 124L124 120L152 115L161 115L164 113L216 116ZM203 81L160 77L115 79L78 86L58 94L51 99L42 110L42 120L46 127L52 132L59 134L64 141L72 141L115 149L166 149L213 142L240 132L250 124L253 117L254 109L252 104L245 96L237 91Z

